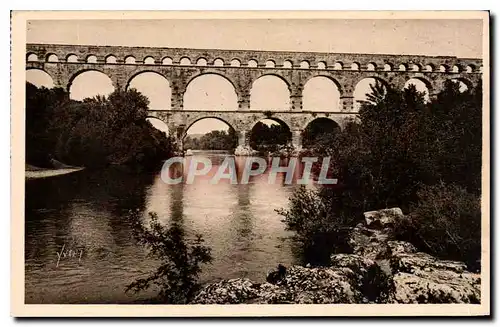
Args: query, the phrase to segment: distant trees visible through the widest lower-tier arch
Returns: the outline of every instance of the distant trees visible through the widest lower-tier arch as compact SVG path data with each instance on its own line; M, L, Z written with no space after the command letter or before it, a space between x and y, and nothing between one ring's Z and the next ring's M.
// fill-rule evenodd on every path
M231 151L238 145L238 137L234 129L226 131L211 131L201 137L187 135L184 138L184 149L192 150L227 150Z

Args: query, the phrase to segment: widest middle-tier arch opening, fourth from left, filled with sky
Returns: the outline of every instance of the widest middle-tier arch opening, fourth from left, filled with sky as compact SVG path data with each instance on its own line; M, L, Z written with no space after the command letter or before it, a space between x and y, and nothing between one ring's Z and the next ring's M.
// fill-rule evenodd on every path
M226 77L206 73L193 78L184 93L184 110L238 109L238 96L233 83Z

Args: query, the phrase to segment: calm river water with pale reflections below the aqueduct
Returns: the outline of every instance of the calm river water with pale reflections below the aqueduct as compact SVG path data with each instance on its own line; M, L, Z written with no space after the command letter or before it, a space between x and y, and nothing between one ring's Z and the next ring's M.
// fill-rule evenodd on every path
M225 157L210 156L214 170ZM157 264L134 240L130 210L144 220L153 211L165 224L178 222L187 237L203 234L214 257L203 266L203 282L263 281L278 263L298 262L293 234L274 211L287 206L295 187L283 185L283 177L271 185L267 174L247 185L213 185L208 177L168 185L160 173L108 169L28 181L26 303L134 303L152 297L154 289L124 292Z

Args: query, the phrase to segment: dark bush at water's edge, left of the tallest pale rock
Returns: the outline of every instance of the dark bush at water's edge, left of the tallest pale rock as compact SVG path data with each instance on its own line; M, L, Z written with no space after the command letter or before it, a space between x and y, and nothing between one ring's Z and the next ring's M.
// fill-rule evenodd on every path
M327 265L330 254L351 252L349 232L356 220L336 210L336 200L332 193L301 185L290 198L289 209L277 210L303 244L304 263Z

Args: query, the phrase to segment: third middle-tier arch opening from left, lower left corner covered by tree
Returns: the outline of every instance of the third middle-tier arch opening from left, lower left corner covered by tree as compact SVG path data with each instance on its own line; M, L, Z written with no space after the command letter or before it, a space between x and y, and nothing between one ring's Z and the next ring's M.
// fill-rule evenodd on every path
M128 89L136 89L149 100L149 109L170 110L172 89L169 81L157 72L140 72L127 83Z

